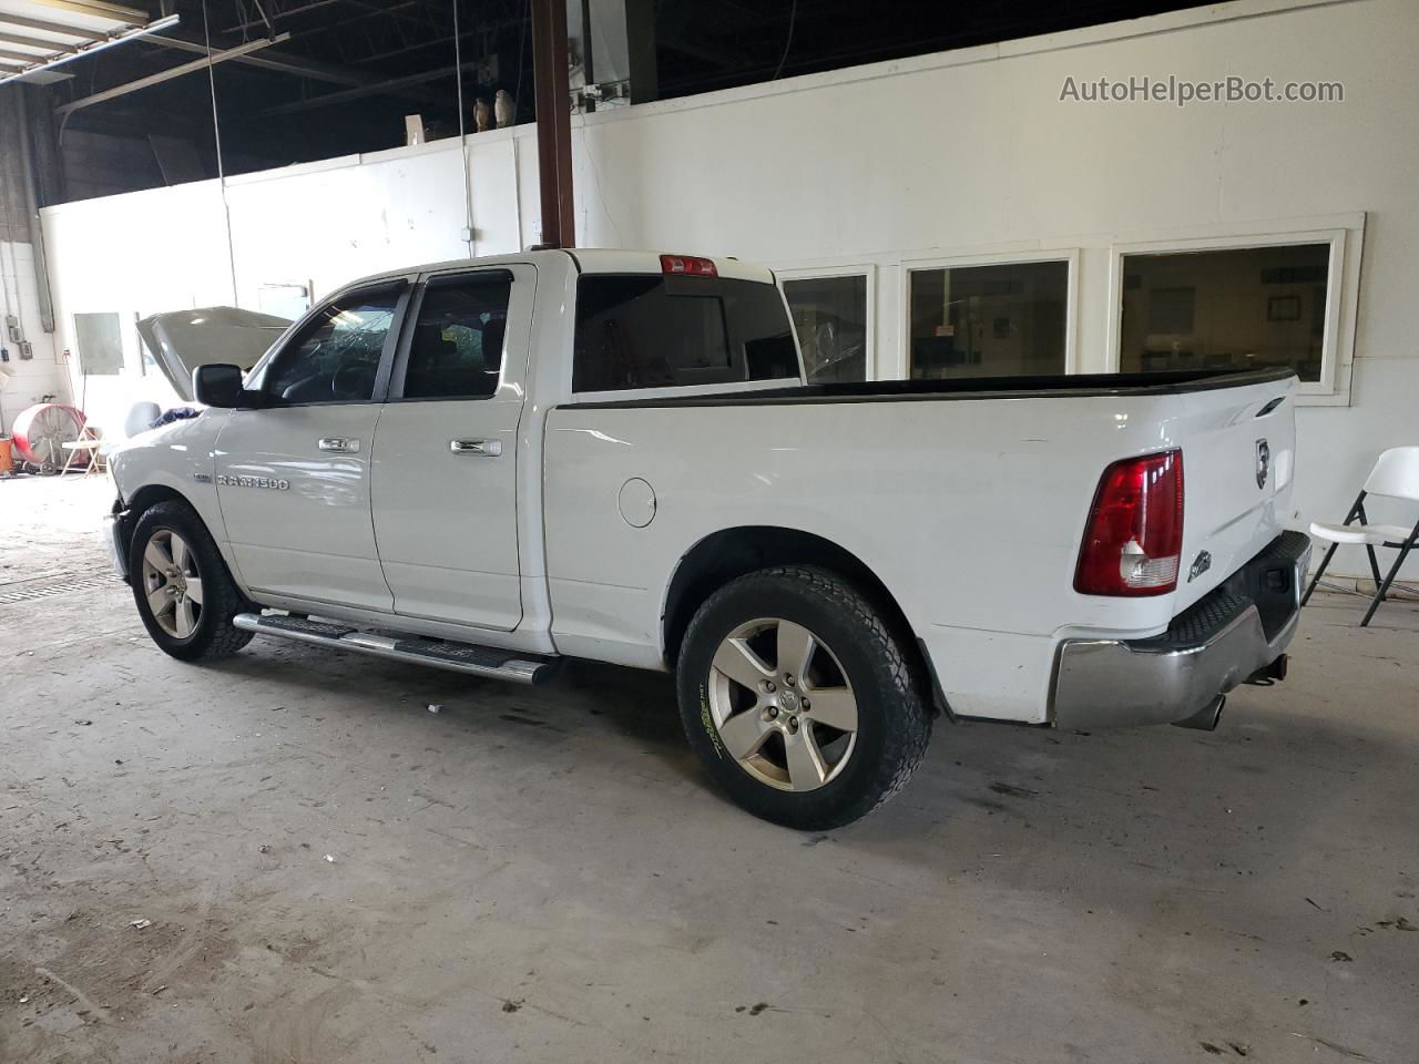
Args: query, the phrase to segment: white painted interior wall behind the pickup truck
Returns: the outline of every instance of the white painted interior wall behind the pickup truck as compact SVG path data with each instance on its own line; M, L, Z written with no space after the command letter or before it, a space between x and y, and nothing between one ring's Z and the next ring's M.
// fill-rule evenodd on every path
M1358 298L1347 287L1341 304L1348 406L1300 411L1293 515L1338 519L1381 447L1419 443L1415 54L1413 0L1237 0L575 118L578 241L864 264L876 372L895 376L904 261L1071 258L1071 366L1090 372L1111 367L1121 245L1348 230L1352 258L1364 238ZM1345 102L1059 99L1066 75L1135 74L1341 81ZM534 129L468 145L474 253L535 241ZM233 287L254 306L264 282L322 291L465 255L464 190L457 142L437 142L233 179L226 206L209 182L45 210L61 325L228 302ZM1359 559L1340 569L1362 573Z

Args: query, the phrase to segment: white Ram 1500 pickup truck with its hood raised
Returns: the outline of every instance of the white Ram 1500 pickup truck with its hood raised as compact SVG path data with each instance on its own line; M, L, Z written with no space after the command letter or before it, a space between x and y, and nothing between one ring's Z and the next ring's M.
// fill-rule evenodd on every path
M765 268L531 251L193 377L111 462L165 651L673 670L708 773L793 827L877 807L939 715L1212 728L1284 674L1288 370L813 384Z

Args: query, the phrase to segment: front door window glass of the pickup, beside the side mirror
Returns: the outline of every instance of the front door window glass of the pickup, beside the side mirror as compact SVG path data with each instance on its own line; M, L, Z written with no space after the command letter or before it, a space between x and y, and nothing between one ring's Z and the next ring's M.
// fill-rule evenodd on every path
M321 309L277 356L263 390L285 403L362 403L373 397L400 292L356 292Z

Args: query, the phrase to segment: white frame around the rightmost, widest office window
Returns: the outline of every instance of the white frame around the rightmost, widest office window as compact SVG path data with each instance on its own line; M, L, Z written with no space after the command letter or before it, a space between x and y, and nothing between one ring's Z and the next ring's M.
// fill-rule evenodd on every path
M1108 245L1108 319L1105 373L1122 365L1124 258L1189 251L1244 251L1249 248L1328 244L1325 275L1325 326L1321 340L1320 380L1303 380L1297 406L1349 406L1355 362L1355 321L1359 264L1364 254L1365 214L1311 220L1310 227L1280 223L1233 226L1225 235L1155 237ZM1328 223L1328 224L1327 224Z

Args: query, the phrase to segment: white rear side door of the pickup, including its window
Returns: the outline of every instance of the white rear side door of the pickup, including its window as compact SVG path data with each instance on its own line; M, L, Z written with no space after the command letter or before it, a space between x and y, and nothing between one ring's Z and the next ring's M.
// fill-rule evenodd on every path
M531 265L434 275L414 297L375 437L375 538L394 613L522 620L518 423Z

